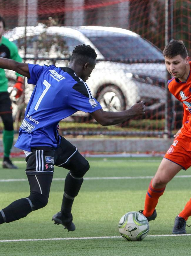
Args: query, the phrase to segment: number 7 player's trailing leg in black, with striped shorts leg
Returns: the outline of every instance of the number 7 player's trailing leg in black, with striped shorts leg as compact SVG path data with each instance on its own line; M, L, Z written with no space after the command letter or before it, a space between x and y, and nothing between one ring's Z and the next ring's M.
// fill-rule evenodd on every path
M26 174L30 185L30 195L14 201L0 211L0 224L24 218L31 211L43 208L48 203L48 196L53 177L54 152L46 148L32 151L26 157ZM28 152L29 153L29 152ZM51 164L47 164L51 162Z

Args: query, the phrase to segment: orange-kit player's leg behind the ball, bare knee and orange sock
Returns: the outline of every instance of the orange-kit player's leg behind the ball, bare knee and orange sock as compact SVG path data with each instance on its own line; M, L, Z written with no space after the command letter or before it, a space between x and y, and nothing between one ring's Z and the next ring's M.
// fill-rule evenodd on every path
M148 220L156 218L155 207L157 206L159 197L163 195L166 184L182 169L182 167L174 162L163 158L160 166L151 180L145 197L145 206L143 214Z

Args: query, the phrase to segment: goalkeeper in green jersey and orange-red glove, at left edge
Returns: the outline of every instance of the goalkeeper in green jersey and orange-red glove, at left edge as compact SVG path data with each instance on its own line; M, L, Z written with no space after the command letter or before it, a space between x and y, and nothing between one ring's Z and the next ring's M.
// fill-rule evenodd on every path
M22 62L22 58L18 54L18 49L16 45L10 42L7 38L3 36L5 28L5 21L0 16L0 57L13 59L18 62ZM16 89L15 97L18 98L23 92L24 80L21 75L16 73L17 80L14 85ZM6 78L4 69L0 69L0 116L4 124L3 131L3 146L4 146L4 158L3 158L3 168L16 169L17 167L12 164L9 155L11 152L14 129L13 129L13 117L12 117L12 107L11 100L9 98L9 93L7 92L8 79Z

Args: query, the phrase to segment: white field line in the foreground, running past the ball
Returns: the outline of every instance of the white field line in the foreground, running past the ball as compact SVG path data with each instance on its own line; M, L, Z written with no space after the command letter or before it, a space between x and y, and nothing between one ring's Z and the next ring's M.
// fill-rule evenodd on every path
M184 235L148 235L147 237L182 237L191 236L191 234ZM40 239L12 239L12 240L0 240L1 243L4 242L33 242L33 241L50 241L50 240L86 240L86 239L111 239L111 238L122 238L121 236L111 236L111 237L58 237L58 238L40 238Z

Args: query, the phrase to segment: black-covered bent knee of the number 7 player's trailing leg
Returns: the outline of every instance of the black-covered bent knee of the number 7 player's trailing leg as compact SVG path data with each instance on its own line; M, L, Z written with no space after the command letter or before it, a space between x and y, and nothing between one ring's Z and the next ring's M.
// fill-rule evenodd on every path
M31 208L33 211L43 208L48 203L48 198L36 191L31 192L28 199L31 201Z

